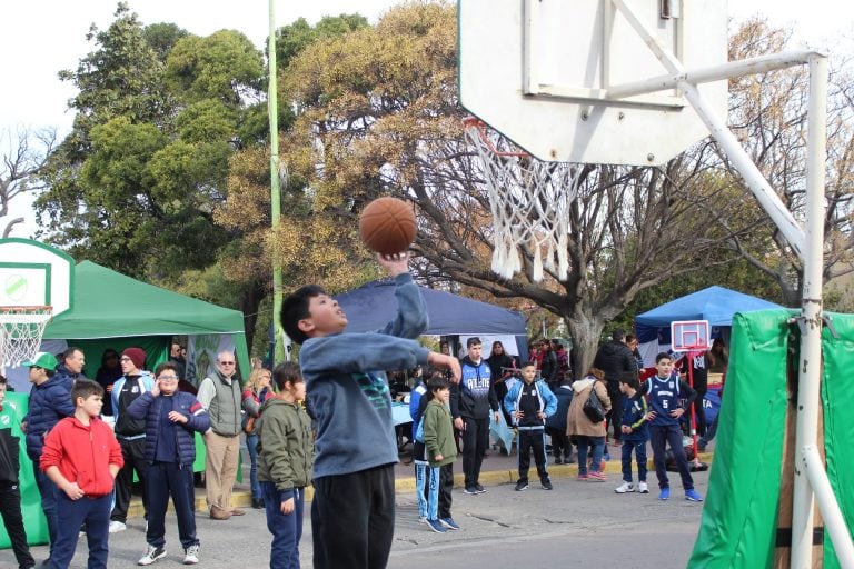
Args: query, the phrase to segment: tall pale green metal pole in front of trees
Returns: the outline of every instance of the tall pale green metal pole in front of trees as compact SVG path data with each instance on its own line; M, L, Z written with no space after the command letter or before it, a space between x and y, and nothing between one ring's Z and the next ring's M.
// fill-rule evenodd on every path
M276 66L276 0L269 0L270 30L267 39L267 64L269 86L267 89L267 114L270 120L270 219L274 232L278 229L281 217L281 189L279 188L279 110L277 97ZM272 362L285 360L282 347L284 331L279 322L281 312L281 264L278 257L272 257Z

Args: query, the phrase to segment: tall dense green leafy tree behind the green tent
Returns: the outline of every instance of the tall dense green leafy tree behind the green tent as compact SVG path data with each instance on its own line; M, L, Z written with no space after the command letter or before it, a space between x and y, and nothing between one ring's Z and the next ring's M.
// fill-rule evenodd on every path
M215 226L214 210L261 97L261 53L234 31L145 28L125 3L87 37L96 49L61 73L79 93L73 130L43 170L47 236L138 277L206 267L235 237Z

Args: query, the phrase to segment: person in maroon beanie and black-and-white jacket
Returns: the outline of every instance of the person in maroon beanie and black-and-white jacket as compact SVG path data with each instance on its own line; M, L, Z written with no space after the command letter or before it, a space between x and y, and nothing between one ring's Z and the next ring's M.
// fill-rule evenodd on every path
M133 471L137 471L142 486L142 510L148 516L146 497L146 420L131 417L127 410L130 403L146 391L151 391L155 380L146 366L146 351L142 348L127 348L119 358L122 377L112 386L112 412L116 419L113 428L121 447L125 465L116 477L116 506L110 515L110 533L127 529L128 507L133 487Z

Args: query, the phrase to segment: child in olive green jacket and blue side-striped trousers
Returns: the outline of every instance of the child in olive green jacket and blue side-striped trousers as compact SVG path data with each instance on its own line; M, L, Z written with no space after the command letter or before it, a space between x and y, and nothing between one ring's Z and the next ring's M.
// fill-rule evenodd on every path
M450 385L444 378L435 378L429 389L427 409L424 411L424 446L430 462L430 488L427 497L427 525L437 533L459 529L450 517L450 491L454 488L454 459L457 446L454 441L454 422L448 408Z

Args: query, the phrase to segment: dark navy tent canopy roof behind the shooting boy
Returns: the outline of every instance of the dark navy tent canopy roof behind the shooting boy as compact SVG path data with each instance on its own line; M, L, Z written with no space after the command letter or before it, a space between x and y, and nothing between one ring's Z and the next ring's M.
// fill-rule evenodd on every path
M426 335L527 335L525 317L519 312L450 292L419 288L429 317ZM348 332L378 330L397 311L395 283L390 280L368 282L335 298L347 313Z

